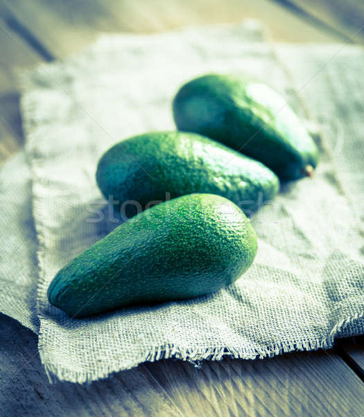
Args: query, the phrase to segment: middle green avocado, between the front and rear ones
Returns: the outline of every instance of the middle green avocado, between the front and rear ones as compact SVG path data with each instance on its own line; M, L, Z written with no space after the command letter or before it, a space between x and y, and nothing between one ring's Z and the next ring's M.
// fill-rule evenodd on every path
M263 164L204 136L177 131L145 133L114 145L101 157L96 181L127 218L151 202L192 193L221 195L249 215L279 190L279 179ZM125 203L130 200L137 203Z

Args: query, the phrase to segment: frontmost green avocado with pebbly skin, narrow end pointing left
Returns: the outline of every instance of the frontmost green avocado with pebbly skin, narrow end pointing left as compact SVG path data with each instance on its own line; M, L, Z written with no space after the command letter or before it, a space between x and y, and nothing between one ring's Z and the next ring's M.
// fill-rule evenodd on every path
M82 318L197 297L234 282L256 253L255 231L235 204L186 195L136 215L89 247L55 275L48 298Z

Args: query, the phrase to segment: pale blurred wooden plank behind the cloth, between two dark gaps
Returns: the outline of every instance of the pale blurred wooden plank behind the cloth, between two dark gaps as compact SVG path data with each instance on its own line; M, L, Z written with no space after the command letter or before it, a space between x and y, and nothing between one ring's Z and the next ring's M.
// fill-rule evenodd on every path
M198 24L260 19L273 38L288 42L333 42L325 33L268 0L159 0L90 2L3 0L8 13L53 56L78 51L100 31L160 32Z

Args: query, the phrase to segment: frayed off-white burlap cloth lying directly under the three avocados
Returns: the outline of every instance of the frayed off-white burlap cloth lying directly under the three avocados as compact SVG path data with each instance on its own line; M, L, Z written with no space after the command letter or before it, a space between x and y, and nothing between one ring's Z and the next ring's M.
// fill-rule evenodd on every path
M39 350L51 377L91 381L163 357L195 363L224 355L263 358L331 347L336 336L363 333L364 232L356 206L363 187L360 178L359 185L348 185L362 167L356 129L363 101L356 93L356 106L347 99L331 113L332 104L311 89L305 111L293 85L302 93L313 85L310 77L316 81L335 72L340 54L336 60L330 54L310 60L308 49L302 56L295 52L297 70L286 65L295 49L277 49L277 59L272 45L262 41L261 29L252 24L105 35L82 54L24 76L22 114L39 241ZM363 63L364 54L355 54ZM352 88L362 83L354 67L345 67L352 71ZM174 129L173 95L184 81L206 72L253 75L289 98L302 118L311 115L320 128L315 137L322 154L314 179L284 184L275 201L252 218L257 258L229 288L196 300L70 320L47 302L49 282L119 224L96 187L98 158L128 136ZM321 88L320 94L333 99L329 87ZM349 108L357 123L346 134ZM339 156L333 152L333 115L339 115L345 138Z

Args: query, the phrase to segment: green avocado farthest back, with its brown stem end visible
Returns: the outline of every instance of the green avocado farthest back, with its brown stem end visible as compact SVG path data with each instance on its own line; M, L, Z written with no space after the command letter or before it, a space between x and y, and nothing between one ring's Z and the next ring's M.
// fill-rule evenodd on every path
M208 74L184 84L173 101L175 124L261 161L282 180L315 168L318 148L297 115L268 85Z

